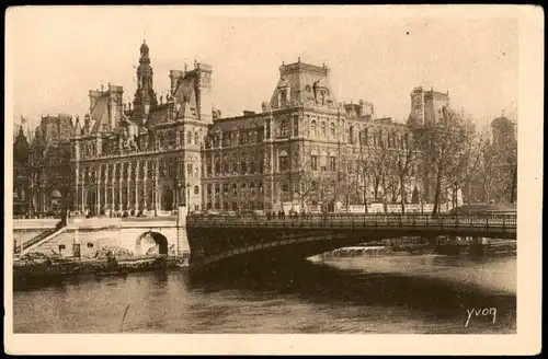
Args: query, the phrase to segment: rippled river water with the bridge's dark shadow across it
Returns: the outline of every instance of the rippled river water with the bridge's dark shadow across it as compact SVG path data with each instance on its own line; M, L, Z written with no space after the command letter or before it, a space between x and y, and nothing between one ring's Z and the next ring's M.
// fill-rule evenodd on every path
M494 321L468 320L493 308ZM14 333L515 333L516 260L366 256L216 280L72 278L15 291L13 312Z

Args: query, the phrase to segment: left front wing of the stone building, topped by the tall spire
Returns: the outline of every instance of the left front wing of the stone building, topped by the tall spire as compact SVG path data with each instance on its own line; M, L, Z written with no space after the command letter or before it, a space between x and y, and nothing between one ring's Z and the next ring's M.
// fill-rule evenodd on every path
M158 213L185 204L189 196L199 208L199 151L217 115L210 79L205 63L171 70L171 89L158 99L144 43L133 106L123 103L122 86L90 91L90 112L83 123L77 118L71 139L73 209Z

